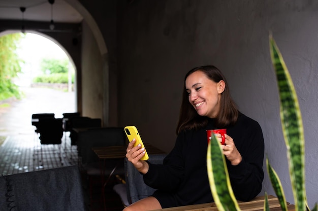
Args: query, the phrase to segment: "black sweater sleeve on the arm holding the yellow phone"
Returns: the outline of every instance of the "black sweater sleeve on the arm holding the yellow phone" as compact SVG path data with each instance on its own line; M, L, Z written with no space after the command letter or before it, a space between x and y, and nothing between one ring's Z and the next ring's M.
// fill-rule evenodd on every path
M149 170L144 175L144 182L155 189L173 191L179 187L183 179L184 159L182 140L184 134L177 137L172 151L165 157L163 164L149 164Z

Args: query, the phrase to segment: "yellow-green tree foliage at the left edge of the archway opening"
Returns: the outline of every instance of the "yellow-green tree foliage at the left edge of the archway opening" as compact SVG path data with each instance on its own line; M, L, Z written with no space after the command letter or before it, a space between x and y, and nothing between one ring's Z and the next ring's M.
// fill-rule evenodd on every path
M23 63L17 54L22 33L7 34L0 37L0 100L11 97L20 99L21 93L13 82L21 72L20 63Z

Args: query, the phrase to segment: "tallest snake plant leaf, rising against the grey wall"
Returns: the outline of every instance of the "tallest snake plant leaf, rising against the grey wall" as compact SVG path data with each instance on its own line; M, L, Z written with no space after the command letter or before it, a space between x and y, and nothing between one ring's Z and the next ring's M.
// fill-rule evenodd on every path
M270 35L270 54L277 77L280 99L280 119L287 147L287 157L296 211L306 209L304 170L304 131L299 103L290 73Z

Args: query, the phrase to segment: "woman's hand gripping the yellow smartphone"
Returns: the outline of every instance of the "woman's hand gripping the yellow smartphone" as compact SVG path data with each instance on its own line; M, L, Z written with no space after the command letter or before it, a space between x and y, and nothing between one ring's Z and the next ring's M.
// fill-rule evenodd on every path
M136 139L133 139L128 144L126 149L126 158L132 162L135 168L142 174L146 174L149 170L149 165L146 161L140 160L145 155L145 148L141 148L141 144L134 147Z

